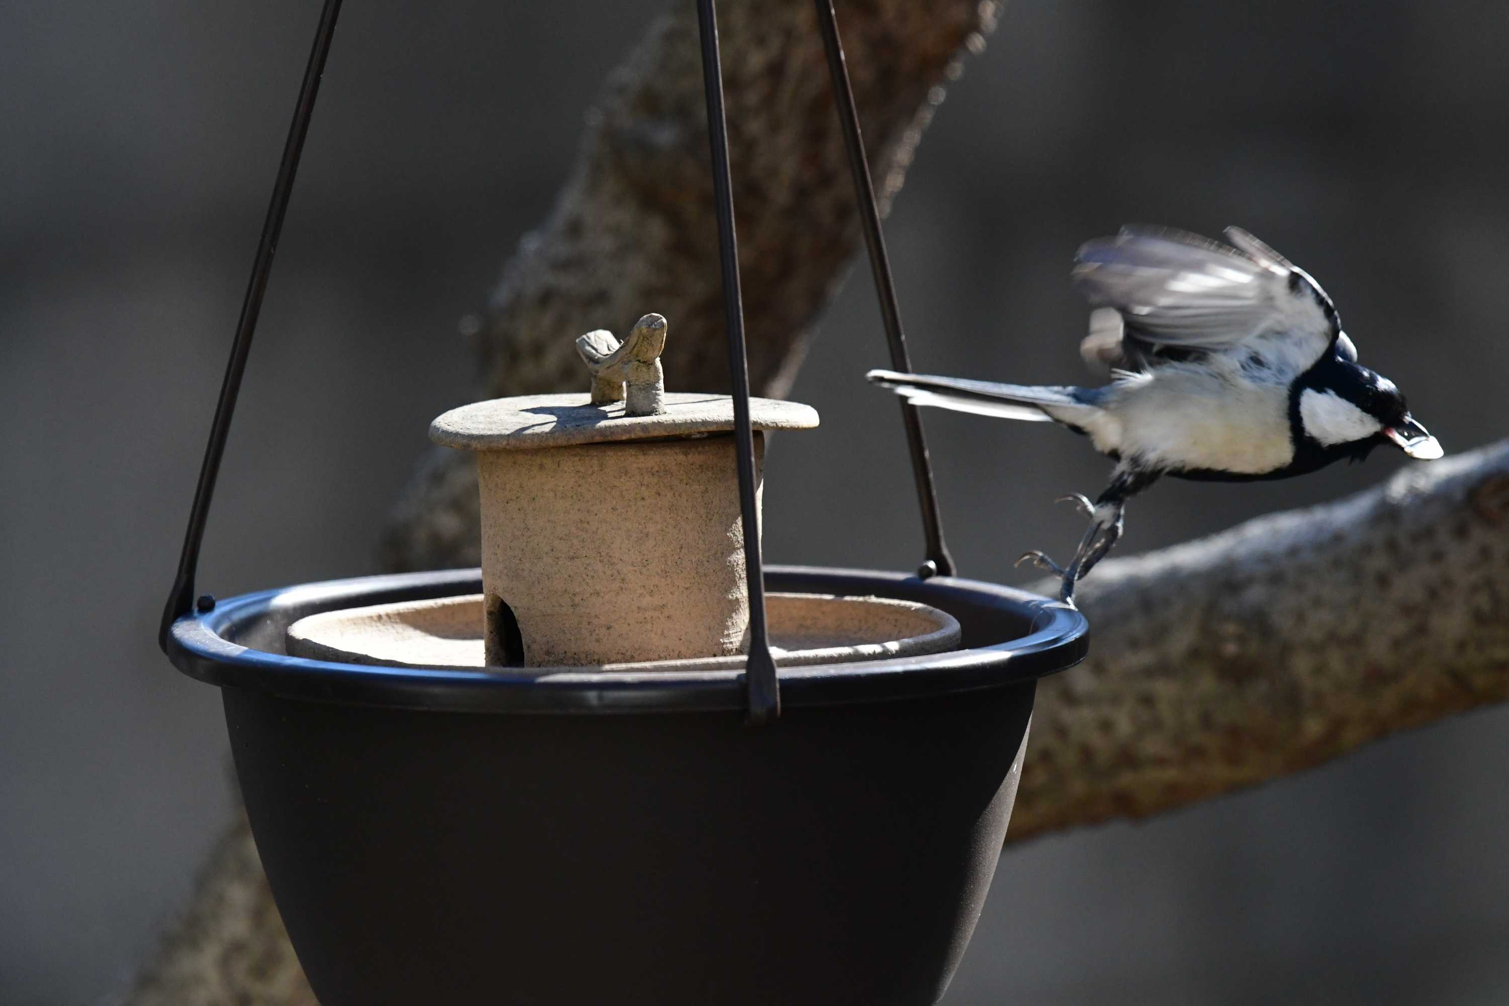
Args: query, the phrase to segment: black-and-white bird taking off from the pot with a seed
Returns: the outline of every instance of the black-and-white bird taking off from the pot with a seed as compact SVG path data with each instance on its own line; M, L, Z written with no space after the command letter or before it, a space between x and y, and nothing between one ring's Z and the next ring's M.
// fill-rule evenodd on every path
M1115 462L1091 502L1068 566L1022 555L1061 579L1059 600L1121 537L1126 501L1160 477L1245 483L1360 462L1384 443L1443 455L1399 388L1357 362L1331 297L1310 273L1242 228L1228 243L1162 226L1124 226L1086 241L1073 284L1088 300L1080 356L1108 371L1100 386L1003 385L869 371L914 406L1052 421Z

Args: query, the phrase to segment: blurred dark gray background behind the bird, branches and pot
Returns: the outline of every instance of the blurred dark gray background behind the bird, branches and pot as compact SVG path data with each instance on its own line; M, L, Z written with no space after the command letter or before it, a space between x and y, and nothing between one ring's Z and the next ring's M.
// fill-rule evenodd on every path
M220 481L217 594L374 572L465 400L457 323L662 0L347 5ZM794 0L797 2L797 0ZM842 11L842 5L841 5ZM107 1003L231 810L217 695L154 646L317 5L0 5L0 1001ZM1013 0L887 225L919 368L1079 379L1083 238L1242 223L1449 451L1506 431L1509 6ZM758 311L759 305L748 305ZM773 445L774 561L920 558L863 271ZM1062 552L1061 431L928 415L963 570ZM1165 483L1123 552L1384 478ZM1010 851L946 1003L1509 1000L1509 710L1145 825Z

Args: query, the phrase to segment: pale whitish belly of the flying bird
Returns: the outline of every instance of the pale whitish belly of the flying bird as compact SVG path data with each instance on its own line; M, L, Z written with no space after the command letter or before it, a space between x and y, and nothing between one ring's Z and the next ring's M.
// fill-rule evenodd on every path
M1287 386L1231 377L1159 368L1108 403L1108 422L1091 437L1102 451L1163 469L1263 475L1287 466L1295 457Z

